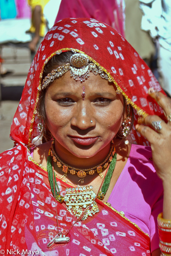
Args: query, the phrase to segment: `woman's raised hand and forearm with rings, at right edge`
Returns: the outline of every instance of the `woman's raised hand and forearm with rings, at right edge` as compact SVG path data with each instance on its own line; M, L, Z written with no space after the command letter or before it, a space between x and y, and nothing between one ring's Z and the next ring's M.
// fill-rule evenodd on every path
M171 120L171 99L153 88L148 94ZM157 115L139 117L136 130L151 143L153 164L164 188L163 218L171 219L171 121L166 123Z

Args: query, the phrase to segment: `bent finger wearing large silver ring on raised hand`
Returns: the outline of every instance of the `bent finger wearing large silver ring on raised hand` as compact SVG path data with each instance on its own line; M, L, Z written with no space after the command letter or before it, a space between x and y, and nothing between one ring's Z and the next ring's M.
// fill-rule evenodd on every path
M138 124L148 125L159 133L165 133L167 129L167 124L158 115L148 115L145 118L139 117Z

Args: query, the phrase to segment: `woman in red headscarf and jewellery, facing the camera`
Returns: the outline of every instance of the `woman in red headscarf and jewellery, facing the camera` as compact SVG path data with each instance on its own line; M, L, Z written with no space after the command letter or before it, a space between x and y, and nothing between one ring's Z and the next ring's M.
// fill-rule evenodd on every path
M154 90L149 68L104 23L64 19L50 29L14 116L15 147L1 154L2 251L160 255L162 206L171 218L171 108ZM152 153L131 146L130 131Z

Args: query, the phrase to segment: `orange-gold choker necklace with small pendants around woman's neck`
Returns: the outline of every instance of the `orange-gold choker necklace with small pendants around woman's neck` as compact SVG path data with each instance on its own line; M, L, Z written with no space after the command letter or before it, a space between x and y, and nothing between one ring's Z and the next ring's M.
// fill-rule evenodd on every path
M71 174L77 174L77 176L80 178L79 181L81 182L81 184L84 183L84 178L85 178L85 176L87 174L92 175L92 174L95 173L95 171L97 171L99 176L103 179L104 177L102 175L102 168L107 168L107 166L112 161L113 156L115 154L115 146L114 146L114 143L113 143L113 140L112 140L111 141L110 152L109 152L108 156L106 157L105 161L103 161L103 163L101 163L98 166L89 168L89 169L82 169L82 170L80 170L78 168L74 168L72 166L69 166L69 165L63 163L59 159L59 157L57 156L57 154L56 154L56 152L54 150L54 144L55 144L55 139L53 139L53 141L52 141L52 146L50 148L50 153L51 153L51 156L53 157L53 161L57 163L57 166L63 168L62 171L64 172L64 175L62 176L62 178L64 178L64 180L65 180L65 177L67 176L67 172L69 171Z

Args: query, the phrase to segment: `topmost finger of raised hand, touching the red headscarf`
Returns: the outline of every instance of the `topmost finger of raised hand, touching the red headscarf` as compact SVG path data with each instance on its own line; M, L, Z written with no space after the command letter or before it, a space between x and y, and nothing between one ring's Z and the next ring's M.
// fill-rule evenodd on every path
M148 94L159 104L166 117L171 114L171 99L169 97L155 91L153 88L148 89Z

